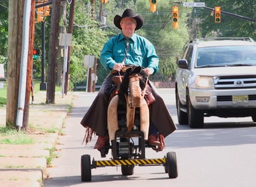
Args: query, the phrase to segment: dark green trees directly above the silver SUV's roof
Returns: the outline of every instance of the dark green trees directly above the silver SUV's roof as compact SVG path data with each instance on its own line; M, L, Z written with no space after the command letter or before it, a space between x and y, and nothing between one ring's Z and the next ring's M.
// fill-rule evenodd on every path
M231 14L242 15L255 18L256 3L255 0L219 0L205 1L207 7L214 9L215 6L221 6L221 11ZM211 11L202 10L201 12L201 33L203 37L252 37L256 40L256 24L249 20L240 19L233 15L221 14L221 23L214 23L214 15Z

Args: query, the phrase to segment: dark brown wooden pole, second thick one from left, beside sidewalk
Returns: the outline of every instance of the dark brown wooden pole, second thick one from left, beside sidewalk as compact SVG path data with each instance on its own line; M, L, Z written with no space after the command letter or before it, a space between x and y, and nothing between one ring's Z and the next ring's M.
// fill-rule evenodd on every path
M49 64L47 77L47 98L45 103L55 104L55 80L57 72L58 37L60 27L60 3L61 0L52 1L52 17L49 42Z

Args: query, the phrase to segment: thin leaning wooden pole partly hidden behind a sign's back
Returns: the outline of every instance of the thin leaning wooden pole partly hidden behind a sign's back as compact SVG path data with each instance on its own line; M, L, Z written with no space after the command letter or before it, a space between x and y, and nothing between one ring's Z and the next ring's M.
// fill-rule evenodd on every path
M70 20L68 22L68 33L73 33L73 24L74 24L74 15L75 15L75 2L72 1L70 4ZM70 79L70 54L71 54L71 46L68 46L68 63L67 63L67 68L66 68L66 74L65 74L65 94L68 93L68 82Z

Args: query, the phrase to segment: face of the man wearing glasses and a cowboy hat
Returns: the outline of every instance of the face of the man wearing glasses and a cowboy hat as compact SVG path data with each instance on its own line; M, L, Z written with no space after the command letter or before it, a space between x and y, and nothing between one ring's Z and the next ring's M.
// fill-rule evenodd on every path
M121 22L120 26L122 28L122 33L125 37L131 37L134 34L135 28L137 26L136 20L130 17L124 17Z

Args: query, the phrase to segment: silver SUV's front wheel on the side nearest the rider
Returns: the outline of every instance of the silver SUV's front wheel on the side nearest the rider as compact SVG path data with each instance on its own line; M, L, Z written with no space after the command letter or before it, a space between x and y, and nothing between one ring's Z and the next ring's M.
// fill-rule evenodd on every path
M188 124L190 128L202 128L204 125L204 115L200 110L194 109L188 97Z

